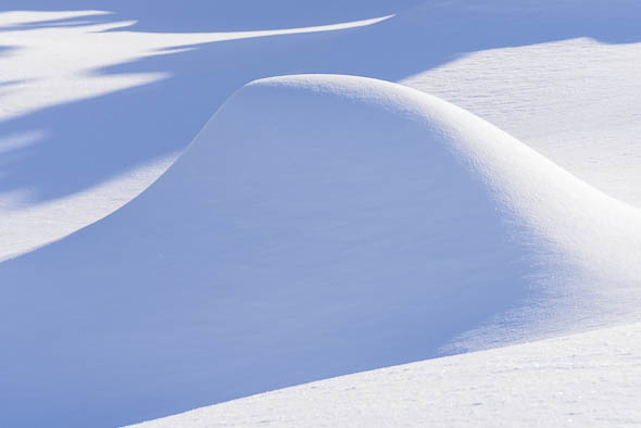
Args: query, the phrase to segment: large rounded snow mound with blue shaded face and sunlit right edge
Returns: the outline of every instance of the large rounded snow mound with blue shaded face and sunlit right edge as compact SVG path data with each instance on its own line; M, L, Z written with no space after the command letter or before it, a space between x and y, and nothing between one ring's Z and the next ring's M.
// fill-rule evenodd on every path
M139 198L0 265L0 425L124 425L631 322L640 260L639 211L466 111L257 80Z

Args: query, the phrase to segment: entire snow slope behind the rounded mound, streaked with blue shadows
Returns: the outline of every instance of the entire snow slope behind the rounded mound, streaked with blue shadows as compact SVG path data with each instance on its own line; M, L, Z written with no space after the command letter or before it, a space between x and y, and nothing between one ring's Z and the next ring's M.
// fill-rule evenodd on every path
M1 2L1 260L116 210L232 91L294 73L437 95L641 205L637 0L152 3Z

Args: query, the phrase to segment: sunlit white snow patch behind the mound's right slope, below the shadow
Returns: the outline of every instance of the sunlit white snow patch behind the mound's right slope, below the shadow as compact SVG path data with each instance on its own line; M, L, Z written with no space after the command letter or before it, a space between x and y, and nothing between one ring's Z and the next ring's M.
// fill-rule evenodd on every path
M478 114L641 206L640 55L641 43L578 38L475 52L401 83Z

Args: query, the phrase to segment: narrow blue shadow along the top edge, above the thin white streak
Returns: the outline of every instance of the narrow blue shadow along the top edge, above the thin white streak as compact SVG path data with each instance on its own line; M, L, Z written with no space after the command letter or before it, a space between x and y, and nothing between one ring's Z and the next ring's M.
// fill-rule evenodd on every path
M111 21L137 21L130 29L154 33L243 32L298 28L386 16L425 0L4 0L0 11L99 10Z

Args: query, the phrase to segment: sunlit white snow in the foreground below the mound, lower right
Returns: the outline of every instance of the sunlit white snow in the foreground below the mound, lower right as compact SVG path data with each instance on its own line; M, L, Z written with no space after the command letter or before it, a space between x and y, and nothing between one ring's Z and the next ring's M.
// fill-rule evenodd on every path
M406 364L137 427L638 427L639 335L634 324Z

